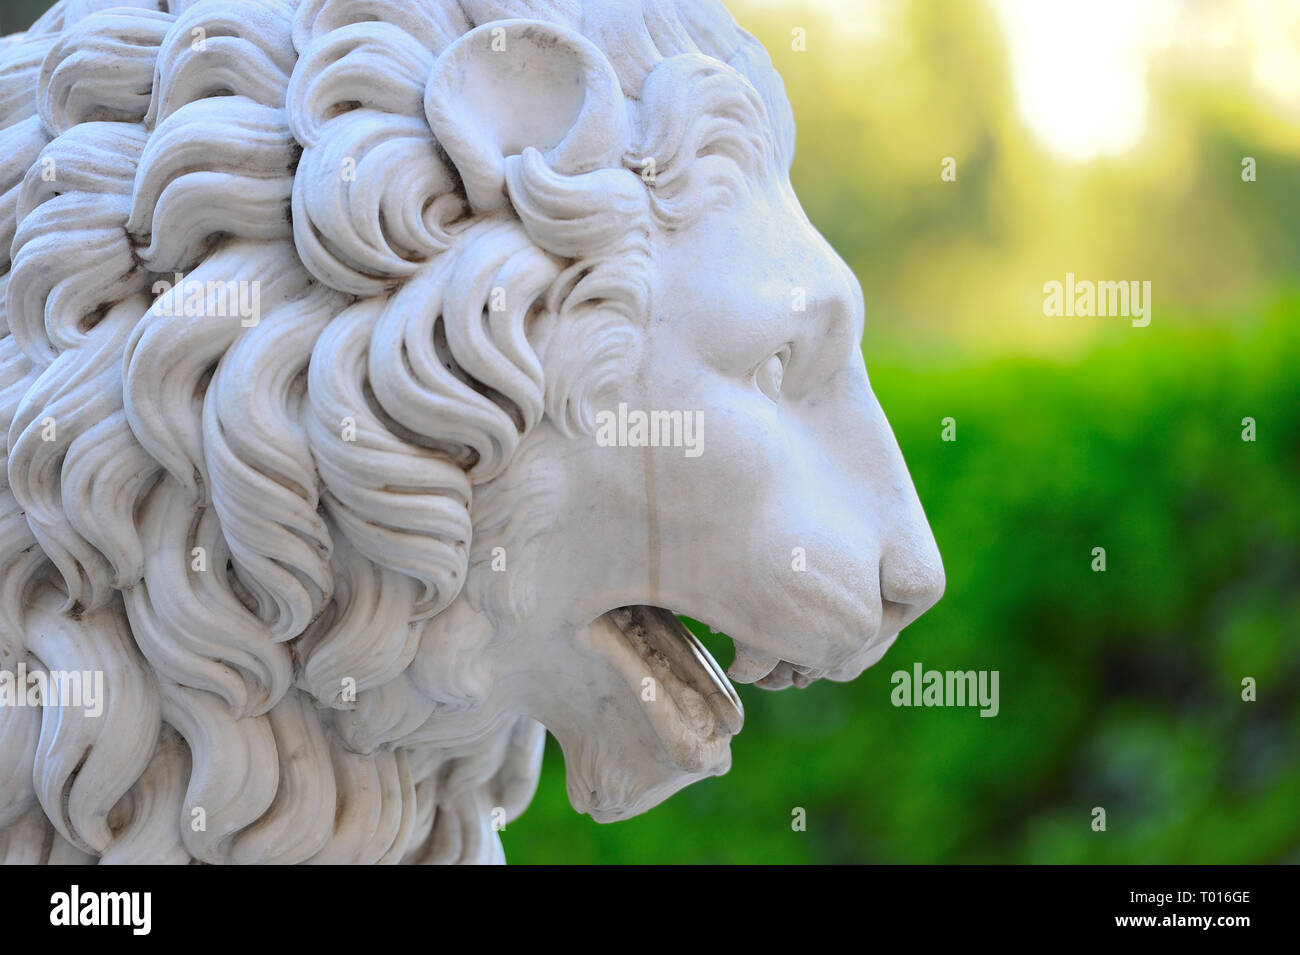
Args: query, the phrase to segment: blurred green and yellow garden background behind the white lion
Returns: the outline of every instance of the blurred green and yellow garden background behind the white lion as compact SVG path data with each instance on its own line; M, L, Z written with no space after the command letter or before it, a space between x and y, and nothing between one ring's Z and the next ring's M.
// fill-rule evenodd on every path
M948 592L854 683L741 687L731 773L638 819L576 815L549 743L508 859L1300 861L1300 4L728 6ZM1150 325L1044 316L1067 272L1149 281ZM893 707L918 661L998 670L1000 713Z

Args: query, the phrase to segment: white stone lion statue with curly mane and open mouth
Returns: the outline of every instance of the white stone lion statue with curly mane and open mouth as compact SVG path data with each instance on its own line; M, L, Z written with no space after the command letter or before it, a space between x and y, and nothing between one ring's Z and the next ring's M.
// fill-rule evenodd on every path
M781 689L942 591L715 0L62 0L0 127L6 861L500 860L545 730L729 768L675 613Z

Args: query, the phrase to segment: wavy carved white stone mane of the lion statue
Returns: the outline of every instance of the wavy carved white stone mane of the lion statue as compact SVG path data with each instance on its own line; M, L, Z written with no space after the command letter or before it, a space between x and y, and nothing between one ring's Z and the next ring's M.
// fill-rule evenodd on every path
M0 706L0 860L499 859L542 729L480 570L653 230L789 166L780 79L712 0L124 1L0 45L0 667L104 674ZM456 57L520 17L594 79L494 162Z

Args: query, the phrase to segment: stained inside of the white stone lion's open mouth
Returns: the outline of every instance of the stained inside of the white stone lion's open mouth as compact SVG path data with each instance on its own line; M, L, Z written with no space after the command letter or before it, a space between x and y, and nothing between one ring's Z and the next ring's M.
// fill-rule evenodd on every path
M672 611L638 604L604 613L593 650L640 695L656 734L679 764L703 770L745 722L732 680L780 690L807 686L822 670L755 652L740 643L725 674ZM603 631L603 633L602 633ZM667 704L667 706L664 706Z

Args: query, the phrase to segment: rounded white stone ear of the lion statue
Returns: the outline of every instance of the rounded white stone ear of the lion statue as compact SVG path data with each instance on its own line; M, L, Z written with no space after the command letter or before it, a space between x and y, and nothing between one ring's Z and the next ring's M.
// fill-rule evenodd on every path
M620 162L627 105L604 55L567 27L500 19L447 47L424 110L476 212L506 204L506 157L534 147L558 173Z

